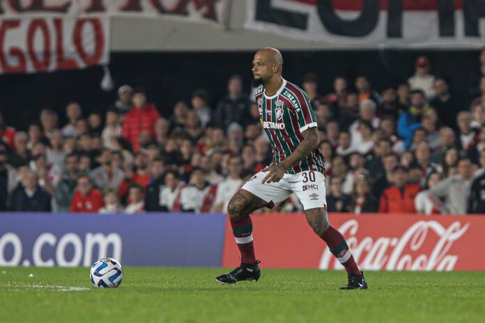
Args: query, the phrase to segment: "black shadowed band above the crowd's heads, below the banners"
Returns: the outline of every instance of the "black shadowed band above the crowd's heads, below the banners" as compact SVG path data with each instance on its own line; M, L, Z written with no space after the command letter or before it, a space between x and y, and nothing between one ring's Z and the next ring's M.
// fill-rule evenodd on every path
M478 51L355 51L355 52L288 52L283 51L283 75L301 84L303 74L315 72L322 94L332 91L335 76L344 75L349 84L358 74L367 75L373 88L381 90L397 85L414 74L414 61L426 54L432 74L449 80L454 96L459 99L456 110L468 109L472 75L479 68ZM106 109L116 99L116 89L123 84L146 88L148 101L155 102L162 116L169 116L178 100L190 101L191 93L204 88L210 104L226 93L227 79L241 74L249 93L252 79L253 52L184 52L184 53L111 53L111 77L115 88L104 92L100 82L102 67L66 72L24 75L0 75L0 110L6 123L18 129L38 120L43 107L56 110L65 122L64 107L70 101L82 104L84 113Z

